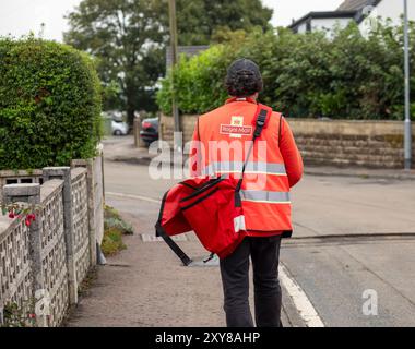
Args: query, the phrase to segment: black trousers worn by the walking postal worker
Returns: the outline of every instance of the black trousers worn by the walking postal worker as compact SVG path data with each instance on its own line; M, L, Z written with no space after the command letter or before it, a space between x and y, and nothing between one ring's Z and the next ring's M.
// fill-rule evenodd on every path
M249 256L253 266L256 324L258 327L281 326L280 246L278 236L247 237L232 255L221 260L228 327L253 327L249 309Z

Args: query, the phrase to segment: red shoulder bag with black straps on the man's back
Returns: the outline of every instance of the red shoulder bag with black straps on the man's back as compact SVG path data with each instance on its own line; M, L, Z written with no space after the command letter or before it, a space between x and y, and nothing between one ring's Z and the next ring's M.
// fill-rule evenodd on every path
M272 109L258 105L256 129L241 168L246 170L253 144L271 118ZM202 146L201 146L202 147ZM226 149L225 149L226 151ZM178 183L163 197L156 222L156 233L162 237L185 265L190 258L174 243L170 236L194 230L200 242L212 254L225 258L235 251L246 237L241 203L242 178L204 176Z

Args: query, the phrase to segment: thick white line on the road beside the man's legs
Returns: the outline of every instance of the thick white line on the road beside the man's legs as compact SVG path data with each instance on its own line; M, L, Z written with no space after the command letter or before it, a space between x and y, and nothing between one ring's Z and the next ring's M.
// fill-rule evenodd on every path
M321 321L307 294L293 277L289 276L288 270L283 265L280 265L280 279L307 327L324 327L324 323Z

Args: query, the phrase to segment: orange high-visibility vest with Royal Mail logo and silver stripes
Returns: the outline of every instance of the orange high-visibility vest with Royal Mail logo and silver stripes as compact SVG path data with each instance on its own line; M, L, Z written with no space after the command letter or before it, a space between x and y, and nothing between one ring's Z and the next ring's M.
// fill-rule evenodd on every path
M257 103L250 98L232 98L223 107L199 117L193 140L201 144L192 145L193 155L199 152L198 160L191 161L193 177L241 172L254 130L256 109ZM247 163L240 196L248 236L292 234L293 181L288 179L278 144L283 122L281 113L272 112ZM303 161L293 142L289 151L300 164L297 172L303 172Z

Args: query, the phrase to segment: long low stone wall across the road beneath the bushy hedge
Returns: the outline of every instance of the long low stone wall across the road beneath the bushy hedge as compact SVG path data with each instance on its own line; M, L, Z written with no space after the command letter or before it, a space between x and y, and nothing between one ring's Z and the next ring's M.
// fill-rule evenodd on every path
M181 117L185 143L191 140L195 120L194 116ZM404 166L403 122L288 119L288 123L306 164L372 168ZM173 118L162 116L161 139L171 144L173 130ZM415 137L413 149L415 155Z

